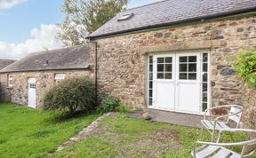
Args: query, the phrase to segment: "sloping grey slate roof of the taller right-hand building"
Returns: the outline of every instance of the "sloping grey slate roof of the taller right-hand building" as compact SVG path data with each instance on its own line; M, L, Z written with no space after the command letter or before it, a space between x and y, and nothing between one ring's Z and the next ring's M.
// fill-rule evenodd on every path
M220 17L256 10L256 0L164 0L120 12L88 38ZM117 21L134 13L129 20Z

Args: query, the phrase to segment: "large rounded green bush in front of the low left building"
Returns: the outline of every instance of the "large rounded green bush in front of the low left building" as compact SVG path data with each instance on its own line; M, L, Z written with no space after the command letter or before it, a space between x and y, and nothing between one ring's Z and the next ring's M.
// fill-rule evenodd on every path
M95 109L95 84L87 77L65 80L52 87L44 95L43 109L64 109L69 113L82 109L90 112Z

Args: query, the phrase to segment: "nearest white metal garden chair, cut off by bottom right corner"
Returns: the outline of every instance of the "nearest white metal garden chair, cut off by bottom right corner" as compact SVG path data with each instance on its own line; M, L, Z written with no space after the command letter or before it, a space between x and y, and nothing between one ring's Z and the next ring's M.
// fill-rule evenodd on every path
M256 138L251 140L236 142L236 143L219 143L220 134L222 131L233 132L251 132L256 134L256 130L249 129L226 129L220 130L217 143L197 141L194 146L194 151L191 152L194 158L244 158L255 154L256 152ZM228 149L228 146L243 146L240 154Z

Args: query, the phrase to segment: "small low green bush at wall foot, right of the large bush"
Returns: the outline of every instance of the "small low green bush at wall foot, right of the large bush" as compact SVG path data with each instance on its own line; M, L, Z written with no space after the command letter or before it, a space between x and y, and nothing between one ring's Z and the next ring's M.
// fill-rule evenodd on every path
M120 99L113 96L108 96L100 101L100 107L98 107L97 112L100 114L105 114L110 111L116 112L121 105Z

